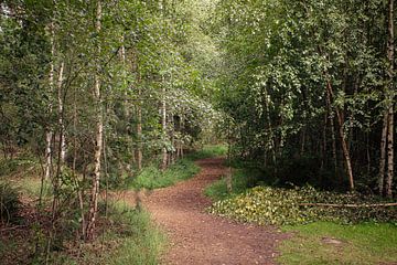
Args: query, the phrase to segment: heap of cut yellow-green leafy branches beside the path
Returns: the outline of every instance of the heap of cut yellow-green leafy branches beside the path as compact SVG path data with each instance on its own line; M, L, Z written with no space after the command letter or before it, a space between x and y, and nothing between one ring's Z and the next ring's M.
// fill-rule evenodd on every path
M215 202L210 212L258 224L301 224L314 221L334 221L337 223L396 222L397 210L394 208L300 205L300 203L371 204L376 202L379 200L369 195L322 192L311 187L294 189L256 187L243 194Z

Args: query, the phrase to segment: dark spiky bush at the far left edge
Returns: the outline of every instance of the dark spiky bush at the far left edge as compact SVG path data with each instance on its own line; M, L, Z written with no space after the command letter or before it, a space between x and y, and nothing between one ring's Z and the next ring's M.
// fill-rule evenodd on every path
M17 221L20 206L18 190L9 183L0 182L0 221L3 223Z

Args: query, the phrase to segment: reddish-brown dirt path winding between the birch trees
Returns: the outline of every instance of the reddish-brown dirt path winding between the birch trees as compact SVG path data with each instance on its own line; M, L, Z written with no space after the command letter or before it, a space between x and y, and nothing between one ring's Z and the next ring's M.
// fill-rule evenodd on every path
M276 248L289 235L272 226L236 223L206 213L211 200L203 191L222 178L226 168L222 158L202 159L196 163L201 172L194 178L141 198L170 241L162 263L275 264ZM127 198L135 204L131 193Z

